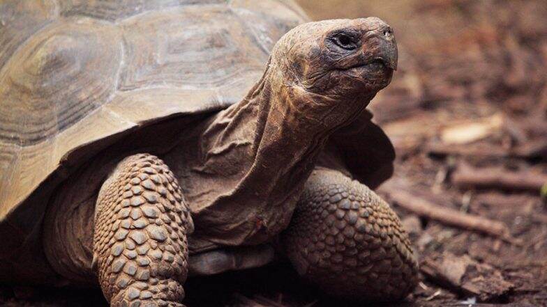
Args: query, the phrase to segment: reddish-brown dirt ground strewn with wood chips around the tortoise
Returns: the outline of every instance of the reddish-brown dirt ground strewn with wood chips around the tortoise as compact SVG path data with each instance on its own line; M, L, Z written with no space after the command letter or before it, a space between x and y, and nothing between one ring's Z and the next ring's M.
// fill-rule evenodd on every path
M371 109L398 153L379 193L410 233L421 282L383 306L547 306L547 1L299 3L313 19L376 15L398 40L400 69ZM286 264L185 288L188 306L352 306ZM106 302L98 289L3 287L0 305Z

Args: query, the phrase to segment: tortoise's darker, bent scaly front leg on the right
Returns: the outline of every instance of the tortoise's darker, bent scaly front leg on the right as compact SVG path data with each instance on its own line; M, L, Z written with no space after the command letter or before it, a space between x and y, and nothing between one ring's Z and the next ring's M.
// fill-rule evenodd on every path
M338 171L313 171L282 240L299 274L329 294L394 301L417 282L417 262L395 212Z

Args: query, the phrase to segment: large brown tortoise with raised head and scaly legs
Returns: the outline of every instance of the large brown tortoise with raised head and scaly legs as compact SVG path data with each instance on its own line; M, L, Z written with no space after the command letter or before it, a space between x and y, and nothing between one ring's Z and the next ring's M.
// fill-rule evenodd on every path
M0 282L182 306L188 275L288 260L325 292L416 283L374 189L366 110L397 65L376 17L290 0L3 1Z

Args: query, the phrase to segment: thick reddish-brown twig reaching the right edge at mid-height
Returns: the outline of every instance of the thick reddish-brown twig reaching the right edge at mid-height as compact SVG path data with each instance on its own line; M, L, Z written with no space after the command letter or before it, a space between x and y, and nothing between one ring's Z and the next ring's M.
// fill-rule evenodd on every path
M537 191L547 183L547 175L530 171L511 172L502 168L473 168L460 164L452 182L461 188L497 188Z

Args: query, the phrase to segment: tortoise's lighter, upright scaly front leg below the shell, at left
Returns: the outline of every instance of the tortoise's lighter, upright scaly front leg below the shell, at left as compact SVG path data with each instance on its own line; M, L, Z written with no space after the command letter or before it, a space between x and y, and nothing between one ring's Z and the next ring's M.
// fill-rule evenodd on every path
M110 306L183 306L188 274L188 207L157 157L123 159L101 187L93 262Z

